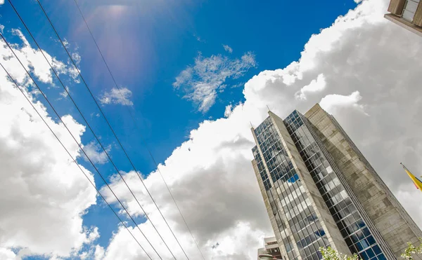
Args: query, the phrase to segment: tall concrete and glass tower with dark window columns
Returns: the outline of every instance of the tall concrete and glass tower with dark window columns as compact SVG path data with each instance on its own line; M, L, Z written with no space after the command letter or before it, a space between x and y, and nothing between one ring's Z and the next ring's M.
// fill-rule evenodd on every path
M333 247L399 259L422 232L335 118L316 104L252 128L252 166L283 259L321 259ZM415 259L422 259L416 256Z

